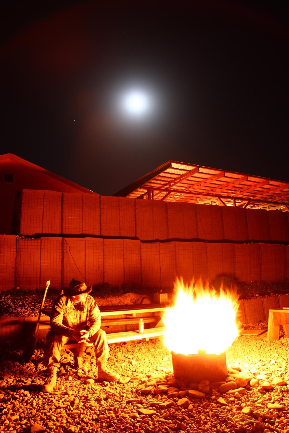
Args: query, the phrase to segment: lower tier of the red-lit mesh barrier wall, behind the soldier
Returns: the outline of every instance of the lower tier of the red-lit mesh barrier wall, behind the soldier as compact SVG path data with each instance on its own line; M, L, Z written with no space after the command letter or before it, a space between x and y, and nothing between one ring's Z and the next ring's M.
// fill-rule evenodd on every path
M68 287L71 278L89 284L142 284L172 287L175 276L186 282L213 281L233 275L240 281L289 278L289 246L261 243L141 242L130 239L0 235L1 290Z

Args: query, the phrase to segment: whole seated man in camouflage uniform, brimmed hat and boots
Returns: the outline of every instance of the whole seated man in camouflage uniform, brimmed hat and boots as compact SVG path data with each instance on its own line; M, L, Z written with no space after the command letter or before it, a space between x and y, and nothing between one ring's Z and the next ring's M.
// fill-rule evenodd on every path
M54 301L50 317L51 331L46 335L43 355L43 364L47 365L48 370L48 378L42 386L43 392L53 391L56 385L56 372L60 366L60 350L71 340L94 344L98 380L112 382L120 377L106 367L107 338L106 333L100 329L99 308L93 297L88 294L91 290L91 287L72 278L65 293Z

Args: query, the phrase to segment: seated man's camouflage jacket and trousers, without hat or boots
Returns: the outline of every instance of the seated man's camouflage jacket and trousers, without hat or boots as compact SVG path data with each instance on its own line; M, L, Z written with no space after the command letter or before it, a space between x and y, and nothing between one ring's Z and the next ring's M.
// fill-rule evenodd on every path
M108 344L105 332L100 329L101 314L97 303L92 296L87 295L83 307L84 311L79 311L71 297L65 294L56 298L50 317L51 331L46 335L43 364L48 367L59 367L62 346L74 340L74 330L84 329L89 331L89 343L94 344L97 361L107 361Z

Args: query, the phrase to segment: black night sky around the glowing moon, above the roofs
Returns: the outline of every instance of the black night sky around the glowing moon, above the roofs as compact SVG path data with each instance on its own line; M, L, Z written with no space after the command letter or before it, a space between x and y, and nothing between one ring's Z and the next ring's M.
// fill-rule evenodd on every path
M104 195L169 159L289 181L287 2L3 3L0 154Z

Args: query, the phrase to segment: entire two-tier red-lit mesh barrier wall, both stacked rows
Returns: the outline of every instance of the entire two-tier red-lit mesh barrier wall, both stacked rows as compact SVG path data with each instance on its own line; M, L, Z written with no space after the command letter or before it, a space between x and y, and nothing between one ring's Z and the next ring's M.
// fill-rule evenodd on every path
M23 190L19 233L0 235L0 290L141 284L218 275L289 278L289 213ZM45 236L43 236L45 235ZM33 236L33 238L31 238ZM288 244L288 245L287 245ZM248 312L250 315L250 312Z

